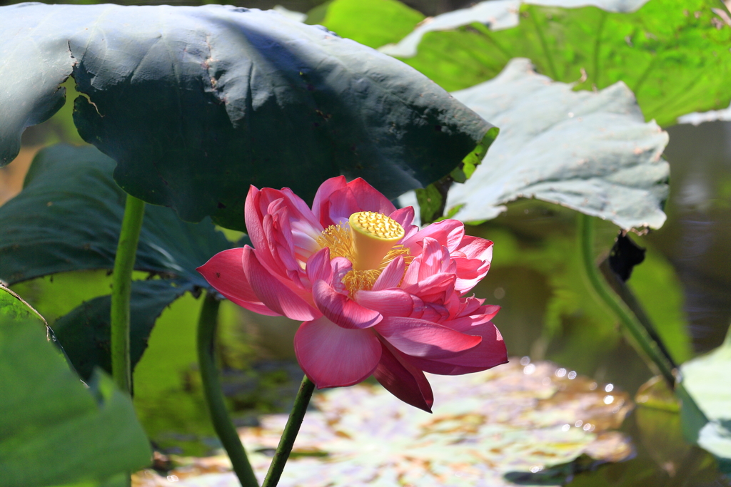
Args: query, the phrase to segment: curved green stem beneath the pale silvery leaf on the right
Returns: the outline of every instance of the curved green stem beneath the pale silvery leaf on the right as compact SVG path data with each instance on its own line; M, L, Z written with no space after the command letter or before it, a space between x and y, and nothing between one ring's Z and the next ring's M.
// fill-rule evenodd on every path
M645 358L649 358L656 366L664 380L671 389L675 388L675 375L673 365L665 358L657 342L650 337L645 327L642 326L637 317L629 310L629 307L610 288L607 281L599 273L599 268L594 262L594 217L579 215L579 242L581 258L583 261L586 277L596 291L596 294L619 318L625 329L632 335L635 344L640 347Z

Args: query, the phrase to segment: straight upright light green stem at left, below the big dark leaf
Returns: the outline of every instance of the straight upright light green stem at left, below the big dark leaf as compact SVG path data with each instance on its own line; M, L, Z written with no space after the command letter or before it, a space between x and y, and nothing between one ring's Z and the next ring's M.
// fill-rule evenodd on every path
M145 202L127 195L112 275L111 353L114 382L128 394L132 391L129 366L129 296L132 270L135 269L137 242L140 240Z

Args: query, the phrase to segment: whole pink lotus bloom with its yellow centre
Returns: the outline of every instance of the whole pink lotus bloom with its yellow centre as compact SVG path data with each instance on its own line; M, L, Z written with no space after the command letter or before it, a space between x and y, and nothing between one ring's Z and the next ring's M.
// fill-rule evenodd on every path
M254 248L224 250L198 271L232 302L303 321L300 367L318 388L371 375L431 412L424 372L461 375L507 362L491 318L498 306L465 294L490 269L492 242L455 220L412 225L362 179L322 183L312 209L289 188L246 197Z

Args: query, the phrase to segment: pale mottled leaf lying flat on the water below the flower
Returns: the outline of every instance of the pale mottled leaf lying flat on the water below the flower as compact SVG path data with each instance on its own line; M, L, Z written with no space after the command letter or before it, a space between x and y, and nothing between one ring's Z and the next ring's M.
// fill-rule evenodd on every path
M514 486L508 472L542 472L588 455L599 462L632 454L615 429L632 409L629 396L549 362L510 364L462 376L430 375L433 414L414 410L380 386L337 388L317 394L287 462L282 487ZM287 415L261 418L240 430L254 470L271 461ZM230 474L185 478L195 467L226 467L221 457L181 468L181 487L234 486ZM197 465L196 465L197 463ZM202 469L200 469L202 470ZM199 470L199 471L200 471ZM205 470L203 470L205 472ZM168 475L177 475L173 470ZM525 475L523 475L525 476ZM510 475L510 478L515 475ZM567 479L531 485L558 485ZM552 479L556 480L556 479Z

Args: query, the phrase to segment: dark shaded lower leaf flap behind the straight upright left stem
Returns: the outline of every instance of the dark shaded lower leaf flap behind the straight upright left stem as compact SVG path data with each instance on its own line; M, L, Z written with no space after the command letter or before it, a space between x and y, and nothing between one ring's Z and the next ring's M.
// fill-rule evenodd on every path
M129 358L132 369L147 348L155 321L170 303L190 291L185 281L146 280L132 283L129 324ZM110 356L111 296L85 302L53 323L58 341L64 345L76 372L84 379L94 367L111 373Z

